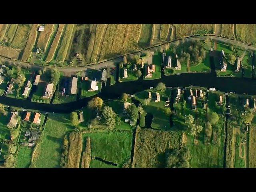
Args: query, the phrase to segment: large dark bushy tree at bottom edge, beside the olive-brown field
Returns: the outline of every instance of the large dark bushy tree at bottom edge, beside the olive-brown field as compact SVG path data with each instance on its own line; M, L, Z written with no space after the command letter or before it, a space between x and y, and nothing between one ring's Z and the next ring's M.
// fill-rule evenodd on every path
M166 168L188 168L190 151L183 147L181 149L170 149L165 154Z

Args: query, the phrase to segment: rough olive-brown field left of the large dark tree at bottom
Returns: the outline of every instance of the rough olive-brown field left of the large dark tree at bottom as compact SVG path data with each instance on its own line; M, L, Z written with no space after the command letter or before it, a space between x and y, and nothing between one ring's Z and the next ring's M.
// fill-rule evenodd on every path
M167 149L179 148L181 132L140 128L136 130L133 167L164 167Z

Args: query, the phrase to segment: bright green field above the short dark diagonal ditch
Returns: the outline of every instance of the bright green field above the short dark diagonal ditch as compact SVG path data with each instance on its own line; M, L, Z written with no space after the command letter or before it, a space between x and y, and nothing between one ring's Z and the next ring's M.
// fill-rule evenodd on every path
M132 131L85 133L91 139L91 156L118 164L119 167L131 158Z

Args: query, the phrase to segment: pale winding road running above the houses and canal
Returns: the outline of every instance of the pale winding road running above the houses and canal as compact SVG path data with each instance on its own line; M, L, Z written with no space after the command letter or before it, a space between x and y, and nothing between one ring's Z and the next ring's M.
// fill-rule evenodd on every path
M191 37L188 37L188 38L185 38L186 40L195 40L195 39L198 39L198 40L206 40L206 38L210 38L211 40L214 40L214 41L217 41L217 42L223 42L223 43L227 43L227 44L233 44L235 46L240 46L242 48L245 48L245 49L248 49L248 50L256 50L256 47L252 47L248 44L245 44L245 43L242 43L242 42L238 42L236 40L231 40L231 39L227 39L227 38L222 38L222 37L218 37L218 36L212 36L212 35L205 35L205 36L191 36ZM175 41L172 41L172 42L167 42L167 43L163 43L161 45L164 45L164 44L175 44L176 41L182 41L181 39L179 40L175 40ZM161 45L156 45L156 46L153 46L151 48L147 48L146 50L151 50L151 49L154 49L154 48L157 48L158 46L161 46ZM138 52L141 52L141 51L138 51ZM130 54L132 55L132 54ZM24 67L31 67L32 69L40 69L42 68L42 66L36 66L36 65L32 65L32 64L28 64L26 62L22 62L22 61L13 61L13 60L10 60L10 59L7 59L7 58L4 58L4 57L0 57L0 61L2 62L9 62L10 64L13 64L13 65L19 65L19 66L24 66ZM118 57L118 58L115 58L115 59L112 59L112 60L108 60L108 61L105 61L105 62L101 62L101 63L98 63L98 64L92 64L90 66L83 66L83 67L67 67L67 68L61 68L61 67L52 67L52 68L56 68L58 69L60 72L64 72L65 74L72 74L72 73L76 73L78 71L83 71L83 70L86 70L88 68L91 68L91 69L100 69L100 68L104 68L106 66L109 66L109 67L114 67L115 66L115 63L119 63L122 61L122 56Z

